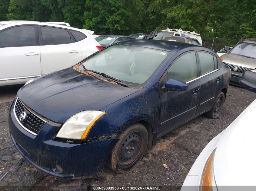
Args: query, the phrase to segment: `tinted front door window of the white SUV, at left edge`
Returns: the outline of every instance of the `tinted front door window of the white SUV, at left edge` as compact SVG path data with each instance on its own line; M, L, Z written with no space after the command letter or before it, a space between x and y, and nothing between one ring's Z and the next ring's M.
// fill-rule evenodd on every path
M0 32L0 47L35 46L35 26L18 26Z

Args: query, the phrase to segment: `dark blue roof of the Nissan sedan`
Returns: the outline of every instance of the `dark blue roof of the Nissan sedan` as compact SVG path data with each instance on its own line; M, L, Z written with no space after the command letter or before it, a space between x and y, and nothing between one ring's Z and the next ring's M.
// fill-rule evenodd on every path
M169 52L174 52L175 50L185 48L185 47L201 48L201 46L196 46L193 44L178 43L174 41L164 41L164 40L151 40L151 39L128 40L128 41L119 42L118 44L141 46L145 48L159 49L159 50L165 50Z

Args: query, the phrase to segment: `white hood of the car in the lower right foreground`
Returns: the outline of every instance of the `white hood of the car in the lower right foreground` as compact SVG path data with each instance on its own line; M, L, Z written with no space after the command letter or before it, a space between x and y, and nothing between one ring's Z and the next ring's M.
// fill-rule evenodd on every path
M214 177L218 190L223 186L256 186L256 100L254 100L220 139L214 155Z

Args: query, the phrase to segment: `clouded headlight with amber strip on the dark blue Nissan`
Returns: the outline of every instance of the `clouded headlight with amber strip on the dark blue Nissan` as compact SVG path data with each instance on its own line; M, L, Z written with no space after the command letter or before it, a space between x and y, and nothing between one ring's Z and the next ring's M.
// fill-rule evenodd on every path
M70 117L61 127L57 137L68 139L85 139L94 123L105 111L81 111Z

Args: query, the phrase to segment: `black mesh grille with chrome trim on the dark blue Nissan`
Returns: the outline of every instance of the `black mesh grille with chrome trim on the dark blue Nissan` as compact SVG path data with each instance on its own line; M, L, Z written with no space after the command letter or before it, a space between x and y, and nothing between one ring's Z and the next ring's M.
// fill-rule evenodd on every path
M14 111L20 125L33 135L37 135L46 123L45 120L32 113L30 108L25 107L19 98L16 100ZM22 120L20 116L23 112L25 112L25 119Z

